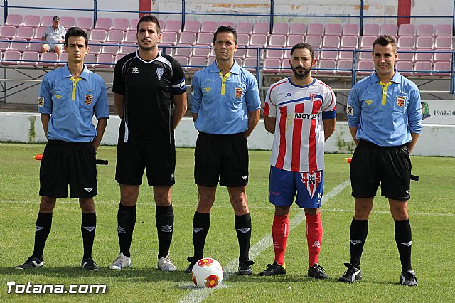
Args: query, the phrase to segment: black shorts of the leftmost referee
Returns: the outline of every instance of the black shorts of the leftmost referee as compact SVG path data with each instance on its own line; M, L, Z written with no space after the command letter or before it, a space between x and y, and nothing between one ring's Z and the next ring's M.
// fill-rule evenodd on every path
M98 193L97 165L92 142L49 140L40 167L40 195L54 198L91 198Z

